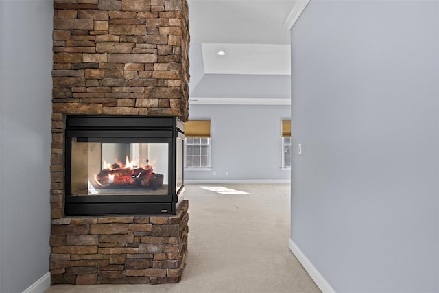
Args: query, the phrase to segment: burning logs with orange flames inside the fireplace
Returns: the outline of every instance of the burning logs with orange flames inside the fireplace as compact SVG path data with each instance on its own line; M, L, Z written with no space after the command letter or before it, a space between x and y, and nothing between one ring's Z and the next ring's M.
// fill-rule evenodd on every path
M111 168L114 169L103 169L95 176L97 185L100 187L160 187L163 185L163 175L153 173L150 165L131 169L121 168L119 165L113 164Z

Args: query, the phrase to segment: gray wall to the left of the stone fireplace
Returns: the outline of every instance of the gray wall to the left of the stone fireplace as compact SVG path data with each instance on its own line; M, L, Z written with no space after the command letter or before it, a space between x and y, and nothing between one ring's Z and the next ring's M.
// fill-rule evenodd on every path
M0 1L0 292L49 272L53 3Z

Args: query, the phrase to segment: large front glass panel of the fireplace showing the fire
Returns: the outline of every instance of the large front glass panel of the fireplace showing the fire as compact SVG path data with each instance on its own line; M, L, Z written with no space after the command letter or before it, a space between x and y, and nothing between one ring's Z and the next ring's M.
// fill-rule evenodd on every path
M168 143L71 139L71 195L168 194Z

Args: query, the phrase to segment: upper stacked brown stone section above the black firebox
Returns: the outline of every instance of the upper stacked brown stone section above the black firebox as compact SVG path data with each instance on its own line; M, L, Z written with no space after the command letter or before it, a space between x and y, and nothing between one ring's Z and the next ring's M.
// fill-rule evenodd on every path
M55 0L54 114L186 121L188 51L185 0Z

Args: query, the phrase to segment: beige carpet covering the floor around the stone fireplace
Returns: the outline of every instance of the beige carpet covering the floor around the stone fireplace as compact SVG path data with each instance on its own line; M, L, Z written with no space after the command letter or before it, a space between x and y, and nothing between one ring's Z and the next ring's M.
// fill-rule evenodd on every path
M54 285L46 293L320 292L288 249L285 184L187 185L189 250L182 281L164 285Z

